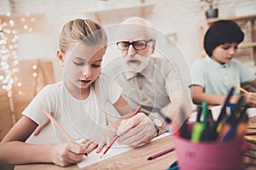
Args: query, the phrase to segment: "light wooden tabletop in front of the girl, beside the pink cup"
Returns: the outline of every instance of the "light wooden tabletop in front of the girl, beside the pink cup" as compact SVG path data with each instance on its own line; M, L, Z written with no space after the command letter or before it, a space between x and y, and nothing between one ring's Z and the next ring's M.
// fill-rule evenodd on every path
M15 170L166 169L174 161L177 161L175 151L150 161L148 161L148 157L172 146L174 146L172 136L167 136L84 168L79 168L77 165L58 167L53 164L28 164L15 166Z

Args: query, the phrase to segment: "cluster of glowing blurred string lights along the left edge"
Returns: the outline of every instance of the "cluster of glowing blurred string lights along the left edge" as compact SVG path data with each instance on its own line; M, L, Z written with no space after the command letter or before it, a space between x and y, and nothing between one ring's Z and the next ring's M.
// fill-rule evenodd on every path
M12 97L13 84L16 82L17 86L22 86L18 77L15 77L15 73L19 71L18 34L20 32L32 32L31 23L36 19L30 14L24 14L17 18L10 13L7 13L4 19L0 20L0 85L3 90L7 91L10 98ZM19 26L16 22L19 22Z

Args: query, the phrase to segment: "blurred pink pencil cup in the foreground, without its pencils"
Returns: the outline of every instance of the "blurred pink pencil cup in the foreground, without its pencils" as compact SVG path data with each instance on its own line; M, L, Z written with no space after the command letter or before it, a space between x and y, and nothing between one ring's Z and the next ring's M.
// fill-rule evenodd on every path
M222 144L194 143L174 135L177 163L181 170L241 170L242 153L247 146L242 139Z

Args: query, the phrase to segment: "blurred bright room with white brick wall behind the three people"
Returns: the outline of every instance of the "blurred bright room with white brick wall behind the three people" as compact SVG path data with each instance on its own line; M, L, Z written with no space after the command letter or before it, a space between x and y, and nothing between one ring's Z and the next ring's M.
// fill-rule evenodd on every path
M1 0L0 140L41 88L61 81L55 54L68 20L89 18L108 27L131 16L151 21L170 37L189 66L205 56L207 27L215 20L235 20L246 34L236 58L256 71L255 0ZM109 47L106 55L118 54Z

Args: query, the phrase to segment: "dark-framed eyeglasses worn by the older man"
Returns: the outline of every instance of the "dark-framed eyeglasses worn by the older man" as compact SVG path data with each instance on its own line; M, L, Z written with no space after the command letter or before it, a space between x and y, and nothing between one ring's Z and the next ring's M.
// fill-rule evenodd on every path
M128 50L130 45L132 45L132 47L136 50L142 50L142 49L147 48L148 42L152 42L152 41L153 41L153 39L150 39L148 41L138 40L138 41L135 41L135 42L117 42L116 45L122 51Z

